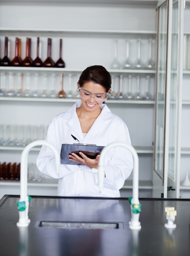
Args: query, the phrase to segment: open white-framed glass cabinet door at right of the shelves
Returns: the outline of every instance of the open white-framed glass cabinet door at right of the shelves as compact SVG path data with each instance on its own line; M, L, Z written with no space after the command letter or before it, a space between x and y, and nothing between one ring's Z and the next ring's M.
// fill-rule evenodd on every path
M168 0L158 8L153 185L164 198L179 197L183 7L181 1Z

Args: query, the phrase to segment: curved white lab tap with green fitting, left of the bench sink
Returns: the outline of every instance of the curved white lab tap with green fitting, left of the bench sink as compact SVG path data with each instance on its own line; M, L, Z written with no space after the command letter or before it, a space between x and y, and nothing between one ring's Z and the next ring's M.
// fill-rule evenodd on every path
M19 221L17 222L18 227L27 227L29 225L28 208L29 208L29 196L27 195L27 184L28 184L28 154L31 148L35 146L47 146L55 155L56 171L59 171L60 165L60 154L56 147L46 140L36 140L28 144L21 154L20 161L20 200L18 202L19 210Z

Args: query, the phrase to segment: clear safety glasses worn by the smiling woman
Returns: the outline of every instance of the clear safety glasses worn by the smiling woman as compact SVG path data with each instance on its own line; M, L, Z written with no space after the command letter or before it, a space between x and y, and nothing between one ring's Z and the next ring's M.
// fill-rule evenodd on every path
M108 92L105 92L105 93L89 92L87 90L84 90L81 87L78 88L78 93L80 95L80 98L83 98L83 99L94 98L94 100L97 102L106 101L109 94Z

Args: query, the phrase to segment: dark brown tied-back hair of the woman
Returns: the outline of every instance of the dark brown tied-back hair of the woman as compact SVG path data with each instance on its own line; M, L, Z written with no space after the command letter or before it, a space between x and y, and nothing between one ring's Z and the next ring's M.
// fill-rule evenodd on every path
M87 67L78 80L79 86L83 87L84 83L94 82L102 85L105 91L108 92L111 88L112 78L110 73L101 65Z

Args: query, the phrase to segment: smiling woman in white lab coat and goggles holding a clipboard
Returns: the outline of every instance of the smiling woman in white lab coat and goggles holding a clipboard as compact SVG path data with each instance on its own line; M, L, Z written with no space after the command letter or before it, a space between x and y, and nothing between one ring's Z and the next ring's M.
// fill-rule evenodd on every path
M87 67L78 81L81 102L75 103L67 112L54 117L49 125L46 140L61 151L62 144L96 144L106 146L113 141L131 144L130 135L124 121L114 115L106 106L111 92L111 76L103 66ZM78 141L75 141L74 138ZM60 196L104 196L120 197L119 189L133 169L133 158L125 148L112 148L105 155L104 188L100 195L98 175L89 172L97 168L100 155L95 159L80 152L68 154L73 164L61 164L56 173L54 154L42 146L37 158L38 169L45 175L58 178Z

